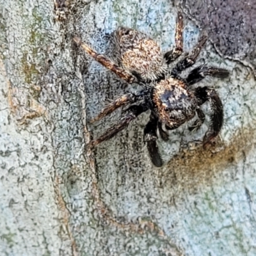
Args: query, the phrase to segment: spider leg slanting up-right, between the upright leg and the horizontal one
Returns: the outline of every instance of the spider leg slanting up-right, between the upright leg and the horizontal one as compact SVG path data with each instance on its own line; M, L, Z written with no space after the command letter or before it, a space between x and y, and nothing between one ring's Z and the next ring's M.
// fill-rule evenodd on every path
M204 47L206 40L206 36L202 36L202 38L200 38L194 49L189 52L189 54L183 60L179 61L177 65L173 68L171 72L172 76L177 76L177 74L180 74L180 72L195 64L196 58Z

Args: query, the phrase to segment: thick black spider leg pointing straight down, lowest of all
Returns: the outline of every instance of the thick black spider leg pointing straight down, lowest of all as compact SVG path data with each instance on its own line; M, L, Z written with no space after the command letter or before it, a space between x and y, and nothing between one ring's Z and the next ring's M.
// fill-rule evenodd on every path
M144 129L144 142L147 142L148 153L152 163L157 167L161 167L163 165L163 160L161 159L156 143L157 124L158 118L151 113L150 120Z

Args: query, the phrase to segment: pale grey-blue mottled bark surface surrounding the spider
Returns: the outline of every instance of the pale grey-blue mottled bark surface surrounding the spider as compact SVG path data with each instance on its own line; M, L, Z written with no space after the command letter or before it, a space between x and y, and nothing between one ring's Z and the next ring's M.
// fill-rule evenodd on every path
M143 143L145 113L86 151L120 111L99 124L88 120L106 100L138 88L84 54L72 35L111 57L111 33L122 25L166 51L177 7L166 0L60 3L0 0L0 255L256 255L255 78L234 60L241 49L224 59L228 51L220 56L210 33L214 45L207 42L199 57L230 70L228 79L198 84L223 100L215 145L202 148L209 118L195 134L182 125L159 141L165 164L156 168ZM193 4L180 6L188 52L205 28L189 19L198 17Z

